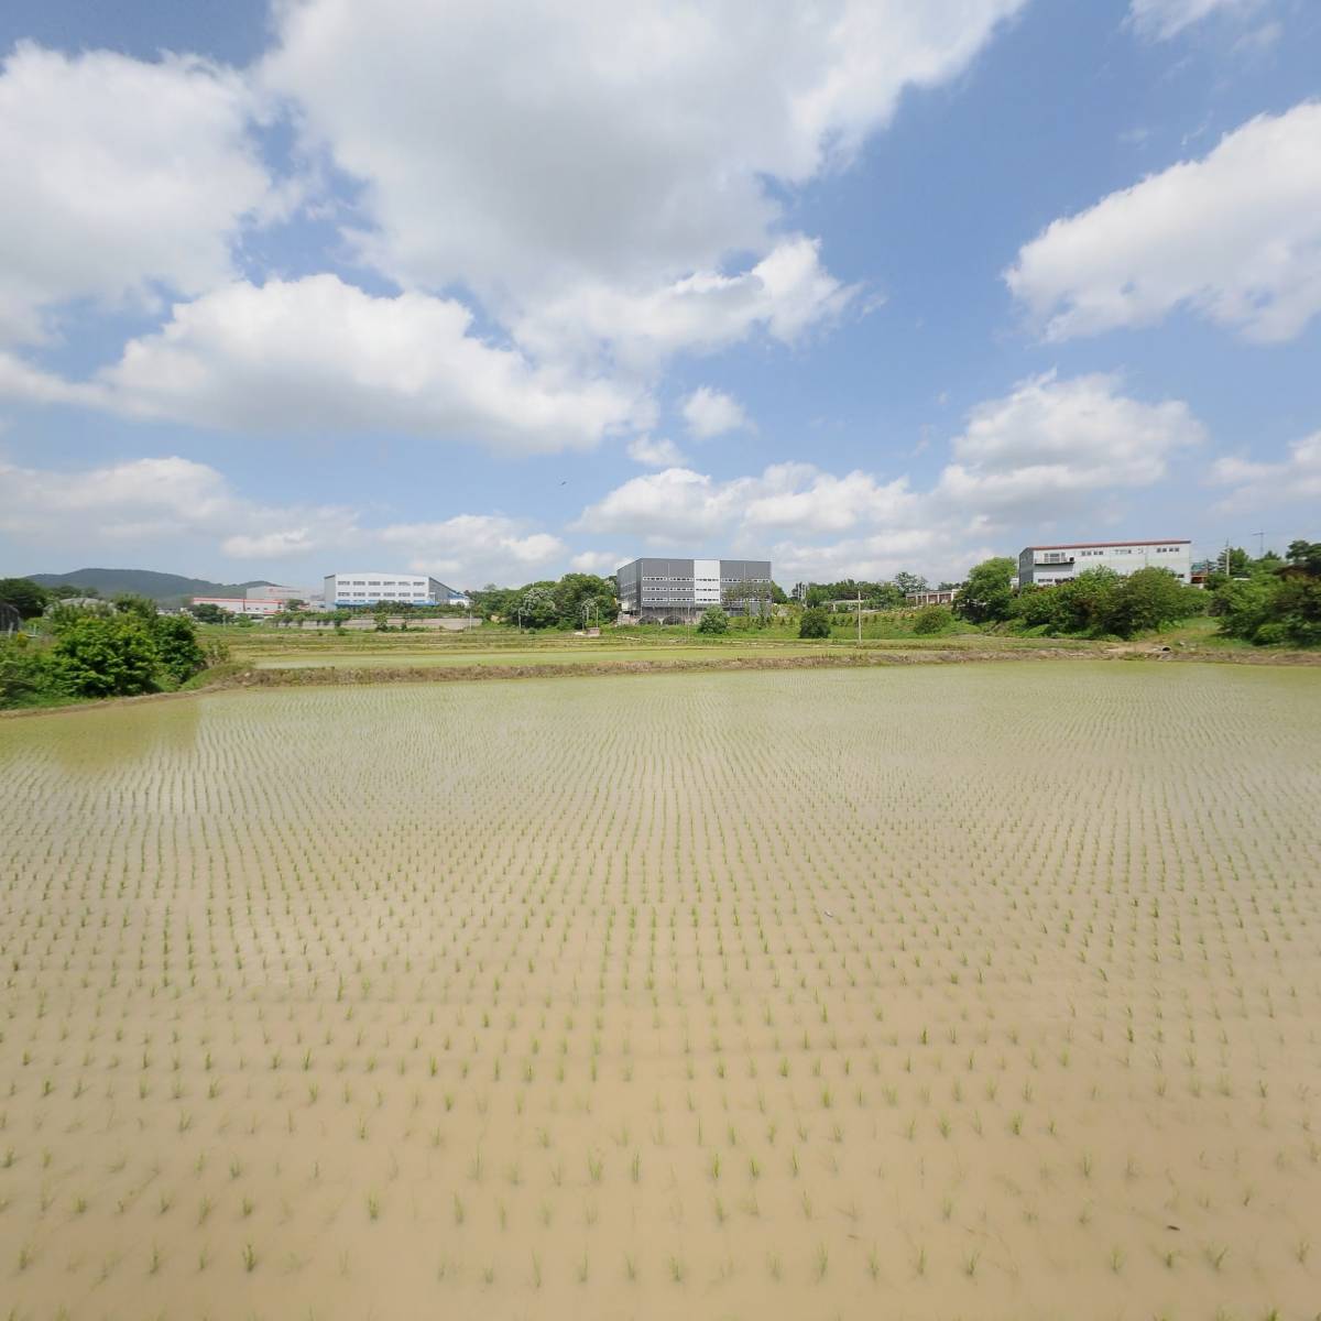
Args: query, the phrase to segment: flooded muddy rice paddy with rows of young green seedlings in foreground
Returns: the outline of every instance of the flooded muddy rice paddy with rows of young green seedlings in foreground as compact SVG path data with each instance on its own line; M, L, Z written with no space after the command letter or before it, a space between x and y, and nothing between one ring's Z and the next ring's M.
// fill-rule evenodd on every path
M1318 748L1090 660L0 720L0 1314L1310 1317Z

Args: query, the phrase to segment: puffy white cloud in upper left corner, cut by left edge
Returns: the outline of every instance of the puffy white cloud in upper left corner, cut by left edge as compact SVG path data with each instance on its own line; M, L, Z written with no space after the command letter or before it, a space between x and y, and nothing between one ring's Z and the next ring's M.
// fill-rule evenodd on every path
M75 299L153 306L232 273L244 223L281 206L231 70L28 42L0 73L0 342L37 342Z

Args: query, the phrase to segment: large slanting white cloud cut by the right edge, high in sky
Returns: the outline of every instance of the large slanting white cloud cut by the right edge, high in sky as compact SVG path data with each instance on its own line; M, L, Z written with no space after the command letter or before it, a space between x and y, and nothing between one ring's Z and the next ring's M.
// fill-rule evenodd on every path
M1054 221L1005 279L1052 339L1180 306L1248 339L1293 338L1321 312L1321 103Z

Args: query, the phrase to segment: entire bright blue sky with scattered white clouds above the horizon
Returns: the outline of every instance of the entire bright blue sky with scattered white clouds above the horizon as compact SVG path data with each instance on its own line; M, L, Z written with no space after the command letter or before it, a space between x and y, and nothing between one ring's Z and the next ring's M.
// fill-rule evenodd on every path
M1308 0L17 0L0 573L1321 535Z

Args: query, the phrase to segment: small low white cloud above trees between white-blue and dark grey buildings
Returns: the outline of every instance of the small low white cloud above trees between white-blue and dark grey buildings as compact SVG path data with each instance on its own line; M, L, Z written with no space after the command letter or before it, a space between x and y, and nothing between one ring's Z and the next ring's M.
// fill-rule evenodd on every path
M435 573L450 587L526 583L563 561L567 547L548 532L499 514L460 514L435 523L392 523L379 531L383 546L408 568Z

